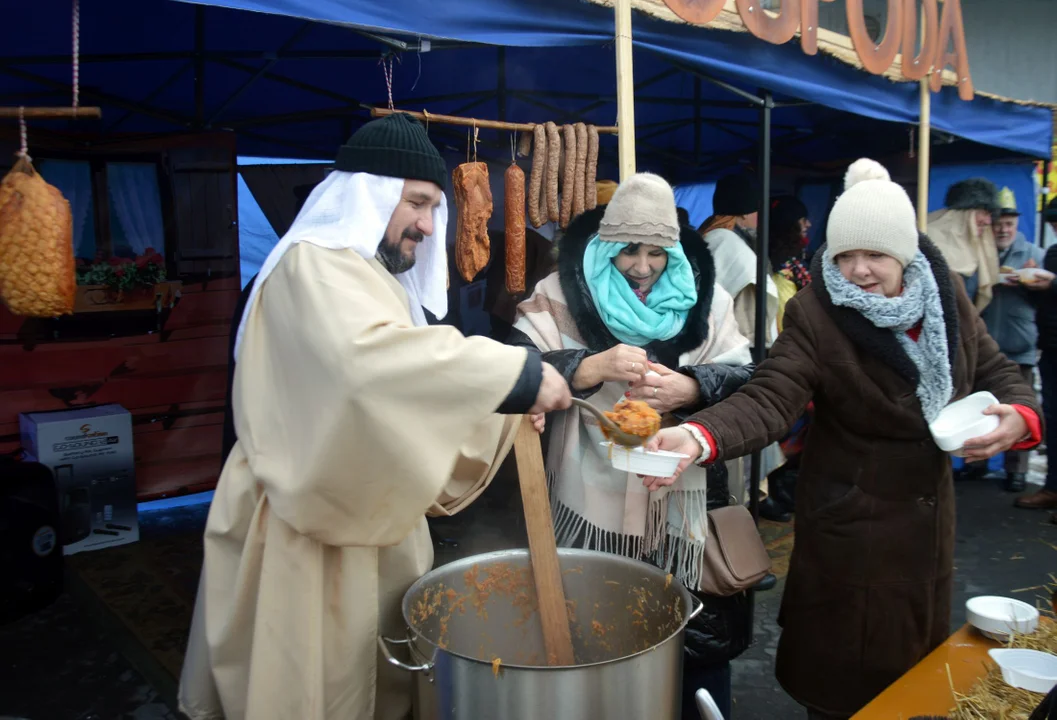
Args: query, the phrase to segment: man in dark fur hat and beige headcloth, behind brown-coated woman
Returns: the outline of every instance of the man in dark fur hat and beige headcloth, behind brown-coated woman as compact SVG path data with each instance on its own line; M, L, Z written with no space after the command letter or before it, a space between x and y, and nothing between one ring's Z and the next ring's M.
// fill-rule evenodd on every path
M945 207L928 216L928 237L950 269L965 280L977 310L990 302L998 278L998 251L991 222L998 213L998 189L984 178L954 183Z

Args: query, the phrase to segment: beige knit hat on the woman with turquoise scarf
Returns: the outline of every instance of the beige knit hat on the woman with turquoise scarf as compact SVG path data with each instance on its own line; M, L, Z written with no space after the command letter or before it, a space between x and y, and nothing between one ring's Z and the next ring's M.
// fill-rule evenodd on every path
M638 172L620 183L606 206L598 239L674 247L679 215L671 185L649 172Z

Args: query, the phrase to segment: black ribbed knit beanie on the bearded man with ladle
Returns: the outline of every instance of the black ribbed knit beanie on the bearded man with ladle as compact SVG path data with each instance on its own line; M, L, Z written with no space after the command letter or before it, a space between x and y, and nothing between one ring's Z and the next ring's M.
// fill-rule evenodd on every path
M334 169L425 180L444 189L448 168L422 124L405 113L371 121L337 151Z

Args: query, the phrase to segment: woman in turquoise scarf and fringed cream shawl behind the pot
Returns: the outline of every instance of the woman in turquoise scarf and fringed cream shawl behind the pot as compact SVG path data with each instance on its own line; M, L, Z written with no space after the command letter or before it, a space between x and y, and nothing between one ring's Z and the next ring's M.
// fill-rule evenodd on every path
M664 179L623 181L607 205L573 220L558 248L557 272L518 307L508 341L539 350L574 396L604 410L642 401L675 424L753 374L734 299L716 283L705 243L680 225ZM684 717L698 717L693 694L705 687L729 718L729 661L752 640L748 602L744 592L699 592L706 513L729 503L726 467L693 467L647 492L613 467L590 413L554 412L545 426L558 544L652 562L702 599L704 611L687 628Z

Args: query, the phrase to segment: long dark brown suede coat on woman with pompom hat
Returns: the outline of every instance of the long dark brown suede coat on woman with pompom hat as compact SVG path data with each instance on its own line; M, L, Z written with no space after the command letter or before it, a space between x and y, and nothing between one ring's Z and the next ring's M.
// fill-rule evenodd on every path
M921 246L943 300L954 400L989 390L1041 419L961 279L924 237ZM949 633L954 493L950 459L922 416L916 368L890 330L832 303L823 254L753 380L690 421L726 460L780 439L814 401L777 676L801 704L852 715Z

